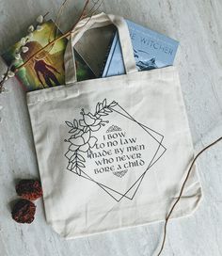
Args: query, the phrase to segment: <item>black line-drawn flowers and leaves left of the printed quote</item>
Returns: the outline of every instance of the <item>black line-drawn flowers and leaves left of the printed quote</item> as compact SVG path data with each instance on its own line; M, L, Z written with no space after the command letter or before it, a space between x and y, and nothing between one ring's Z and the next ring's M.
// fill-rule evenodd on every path
M93 136L93 133L108 123L108 120L103 120L103 117L112 113L113 107L117 104L115 101L107 104L106 99L104 99L102 103L96 104L94 114L91 112L86 114L85 110L82 109L80 112L81 120L65 121L66 125L71 128L69 131L71 136L64 140L70 143L69 151L65 153L69 160L67 167L69 170L81 176L83 168L86 168L84 156L87 152L90 152L98 140L96 136Z

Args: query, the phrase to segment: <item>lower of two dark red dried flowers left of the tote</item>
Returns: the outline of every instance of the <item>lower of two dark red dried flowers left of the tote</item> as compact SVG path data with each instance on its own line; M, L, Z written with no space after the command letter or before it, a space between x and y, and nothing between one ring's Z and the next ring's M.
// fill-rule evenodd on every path
M14 205L11 216L19 223L31 223L36 213L36 205L30 200L18 200Z

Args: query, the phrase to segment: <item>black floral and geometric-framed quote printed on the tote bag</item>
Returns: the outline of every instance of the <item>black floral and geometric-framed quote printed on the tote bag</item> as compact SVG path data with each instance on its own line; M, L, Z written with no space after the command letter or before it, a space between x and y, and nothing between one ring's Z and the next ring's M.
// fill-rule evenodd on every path
M116 201L133 200L148 170L167 151L163 135L115 101L107 104L104 99L94 112L82 109L79 119L65 123L70 134L65 139L67 169Z

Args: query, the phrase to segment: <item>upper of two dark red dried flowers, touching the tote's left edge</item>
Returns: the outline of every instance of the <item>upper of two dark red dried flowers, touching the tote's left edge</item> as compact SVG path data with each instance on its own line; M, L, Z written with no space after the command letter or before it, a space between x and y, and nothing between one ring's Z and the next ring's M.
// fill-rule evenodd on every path
M37 200L42 197L42 188L37 180L21 180L15 189L17 194L25 200Z

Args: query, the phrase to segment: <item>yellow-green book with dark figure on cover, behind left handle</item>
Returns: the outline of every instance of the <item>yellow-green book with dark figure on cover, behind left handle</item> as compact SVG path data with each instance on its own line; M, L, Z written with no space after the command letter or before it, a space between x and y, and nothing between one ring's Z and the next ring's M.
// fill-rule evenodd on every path
M52 20L42 24L40 31L35 30L33 32L33 37L25 44L29 50L26 53L21 53L21 59L16 60L15 67L23 64L30 56L33 56L44 47L49 41L50 34L52 37L56 35L56 38L62 35L61 31ZM52 46L44 49L40 55L31 59L24 68L16 72L16 77L26 91L65 84L64 54L67 42L68 40L66 38L57 40ZM16 49L18 49L18 47L21 47L21 41L9 47L2 55L8 66L15 59ZM74 56L77 80L82 81L95 78L95 74L91 71L82 56L75 50Z

